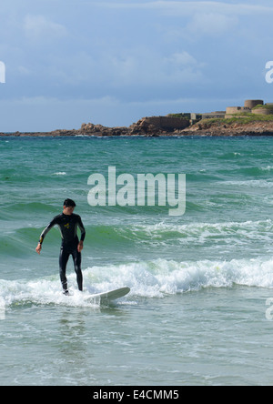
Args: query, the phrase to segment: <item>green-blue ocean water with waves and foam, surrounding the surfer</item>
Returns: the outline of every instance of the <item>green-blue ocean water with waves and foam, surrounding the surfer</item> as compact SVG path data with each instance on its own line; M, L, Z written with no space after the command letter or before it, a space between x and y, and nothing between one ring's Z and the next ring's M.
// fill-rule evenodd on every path
M272 384L271 137L0 137L0 157L0 385ZM91 207L108 167L186 174L185 214ZM57 228L35 253L66 197L86 226L69 298Z

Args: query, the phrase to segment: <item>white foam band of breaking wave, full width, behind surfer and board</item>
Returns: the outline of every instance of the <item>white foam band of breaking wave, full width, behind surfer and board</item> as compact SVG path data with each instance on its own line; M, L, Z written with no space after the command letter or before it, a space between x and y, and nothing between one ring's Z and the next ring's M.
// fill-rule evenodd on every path
M0 308L14 305L56 304L72 307L96 307L86 300L88 294L128 286L126 301L137 298L163 298L166 295L197 291L202 288L232 288L234 285L273 288L273 260L233 259L231 261L177 262L157 259L123 265L86 268L85 291L76 290L75 274L68 276L73 296L63 296L59 279L33 281L0 280Z

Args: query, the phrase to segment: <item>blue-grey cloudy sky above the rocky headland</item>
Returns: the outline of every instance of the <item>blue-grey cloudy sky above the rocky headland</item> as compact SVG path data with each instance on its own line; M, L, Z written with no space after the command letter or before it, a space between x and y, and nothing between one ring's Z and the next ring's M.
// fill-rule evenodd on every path
M273 102L272 20L271 0L3 2L0 132Z

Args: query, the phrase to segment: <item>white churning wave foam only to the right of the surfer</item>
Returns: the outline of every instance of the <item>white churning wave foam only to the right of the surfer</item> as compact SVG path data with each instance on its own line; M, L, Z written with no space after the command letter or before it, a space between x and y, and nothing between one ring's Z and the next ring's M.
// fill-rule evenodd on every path
M177 262L157 259L105 268L88 268L99 288L127 285L131 295L162 297L201 288L231 288L234 284L273 288L273 260Z

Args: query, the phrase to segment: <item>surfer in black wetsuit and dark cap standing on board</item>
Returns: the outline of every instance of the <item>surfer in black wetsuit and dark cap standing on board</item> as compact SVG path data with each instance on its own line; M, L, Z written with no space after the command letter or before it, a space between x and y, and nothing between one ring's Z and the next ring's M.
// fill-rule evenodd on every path
M36 252L40 254L43 241L48 231L56 225L60 228L62 236L62 246L59 257L59 268L60 268L60 279L63 285L63 293L65 295L69 295L66 279L66 265L70 255L72 255L74 261L74 268L76 272L76 281L78 289L81 291L83 290L81 252L82 249L84 248L86 229L83 225L81 217L73 213L75 207L76 203L72 199L65 200L63 213L54 217L53 220L49 223L49 225L45 227L45 230L42 232L40 236L39 243L35 248ZM78 239L76 234L77 227L79 227L81 232L80 240Z

